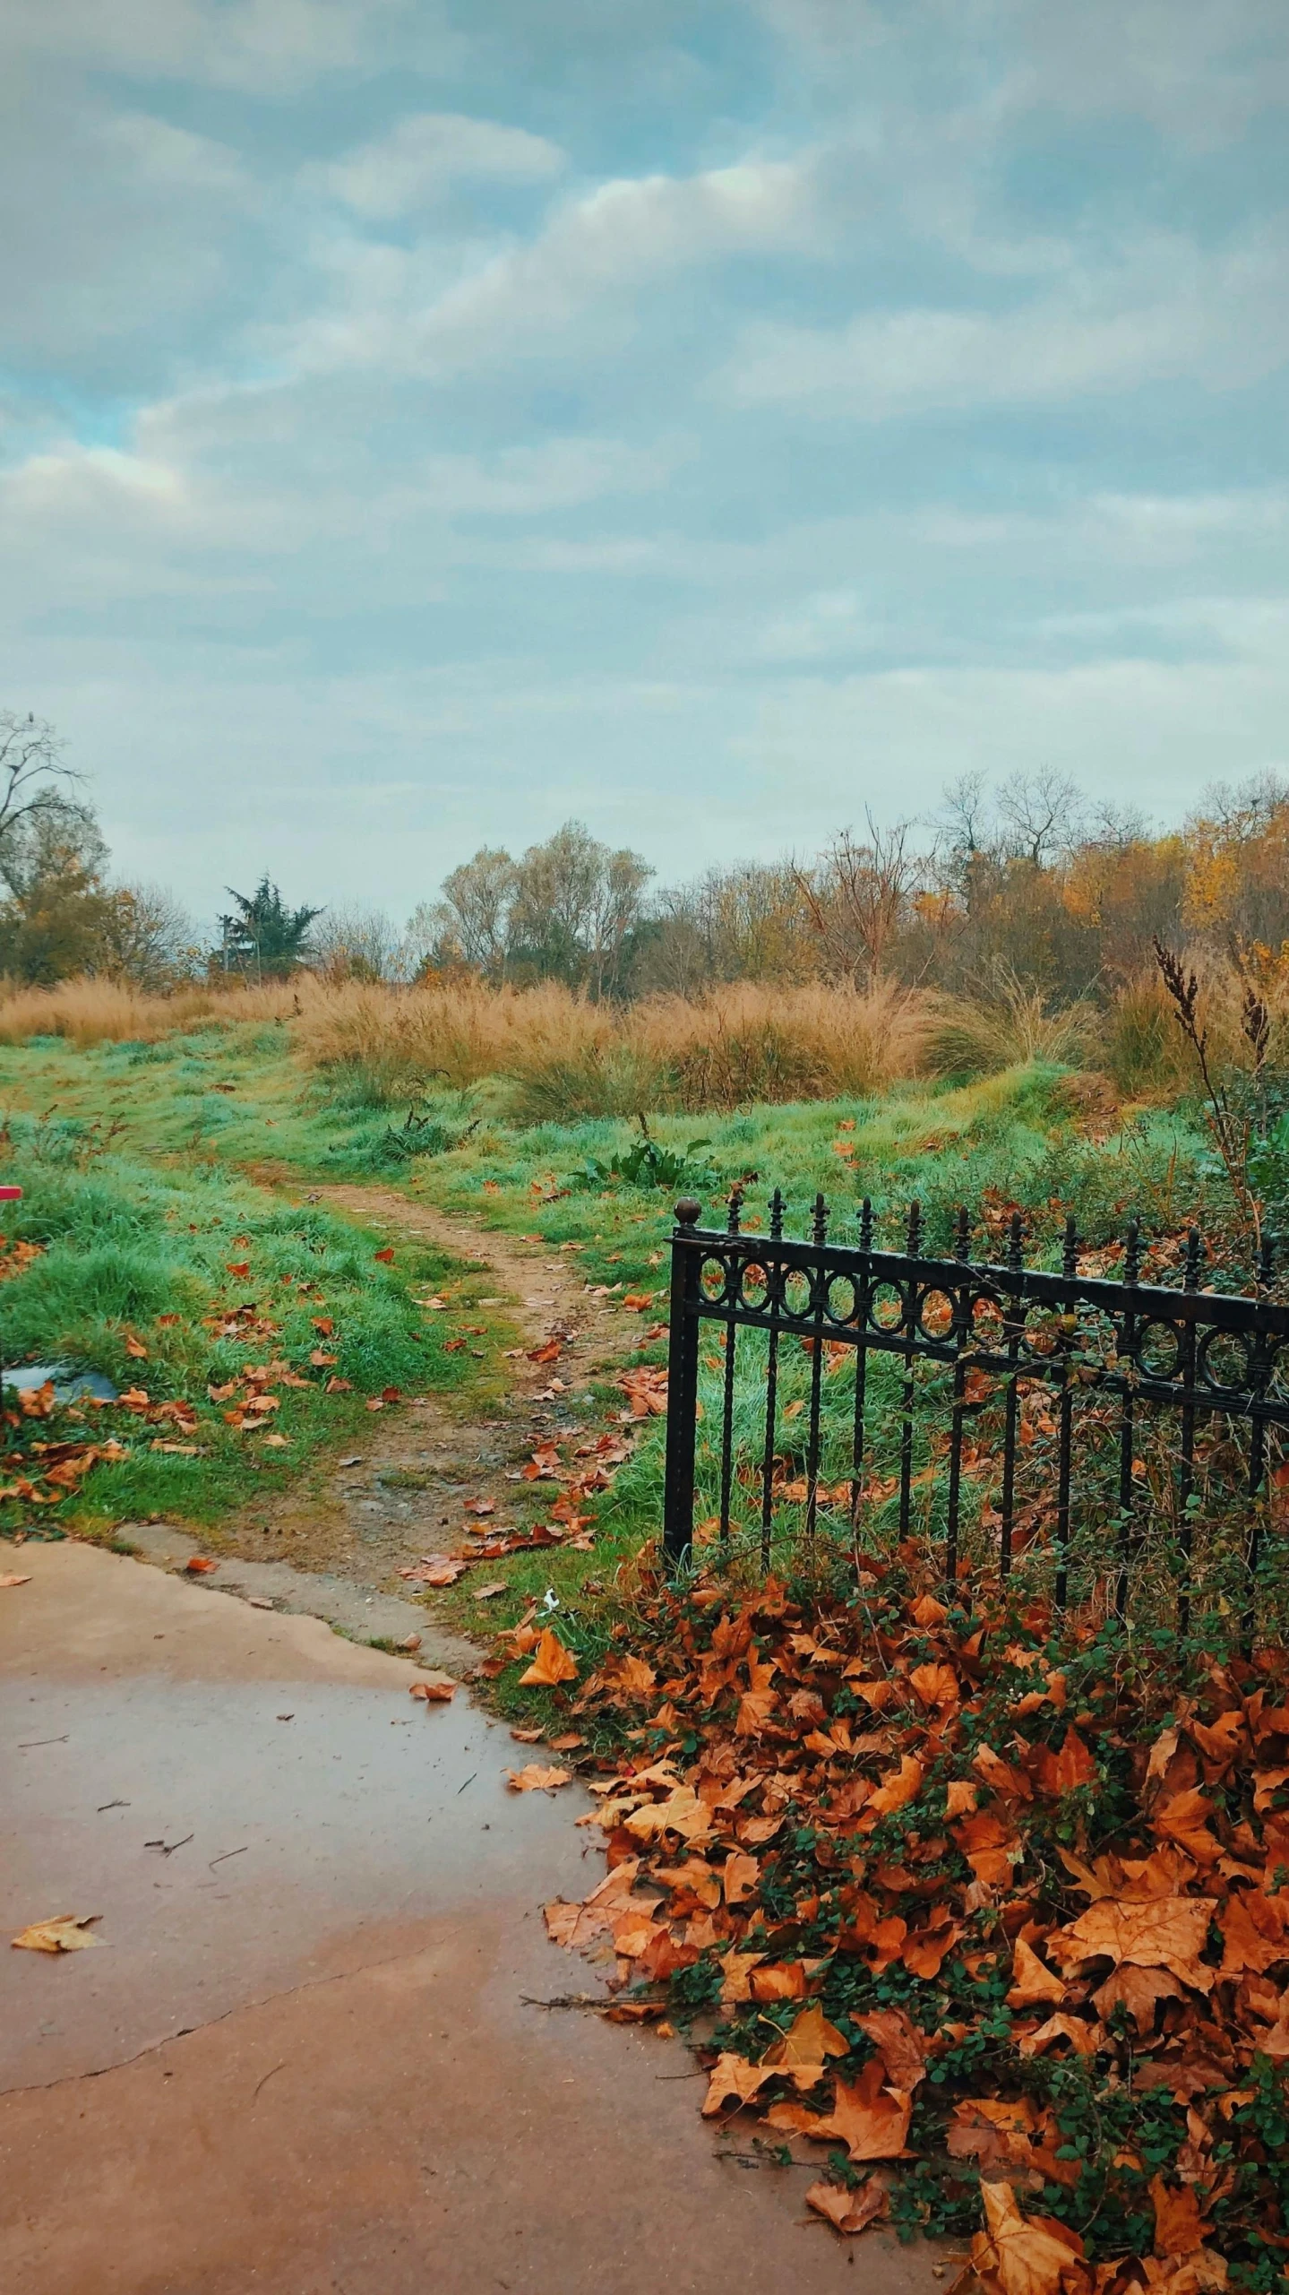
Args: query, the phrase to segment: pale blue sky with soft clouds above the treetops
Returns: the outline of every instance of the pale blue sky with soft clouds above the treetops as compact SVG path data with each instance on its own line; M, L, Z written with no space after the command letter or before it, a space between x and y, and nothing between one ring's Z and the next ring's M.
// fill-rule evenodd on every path
M1289 762L1282 0L7 0L0 707L406 911Z

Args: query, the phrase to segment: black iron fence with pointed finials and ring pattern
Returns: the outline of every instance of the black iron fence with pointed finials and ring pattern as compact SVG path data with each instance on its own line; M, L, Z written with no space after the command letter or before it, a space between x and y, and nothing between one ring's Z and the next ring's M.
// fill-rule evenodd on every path
M677 1205L672 1235L665 1551L867 1526L929 1533L945 1579L972 1558L1007 1574L1021 1551L1050 1572L1055 1602L1096 1581L1119 1616L1147 1545L1190 1620L1197 1540L1222 1547L1227 1588L1252 1616L1266 1572L1271 1496L1289 1430L1289 1306L1271 1294L1273 1248L1252 1290L1202 1287L1193 1230L1177 1283L1142 1283L1128 1226L1110 1274L1080 1271L1067 1223L1060 1271L1025 1267L1021 1216L1000 1262L972 1260L968 1212L950 1258L922 1251L913 1205L901 1248L700 1228ZM1106 1253L1099 1255L1101 1260ZM704 1352L716 1345L716 1352ZM700 1393L702 1391L702 1393ZM695 1524L695 1496L704 1519ZM1071 1579L1073 1574L1073 1579Z

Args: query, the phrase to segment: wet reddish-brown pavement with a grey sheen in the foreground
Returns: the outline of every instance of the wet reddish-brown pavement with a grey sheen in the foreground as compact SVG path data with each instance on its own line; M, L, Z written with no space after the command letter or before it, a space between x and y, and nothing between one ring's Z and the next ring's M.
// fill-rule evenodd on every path
M106 1946L0 1955L7 2295L936 2286L722 2160L679 2043L534 2006L599 1990L539 1907L601 1864L463 1691L101 1549L5 1565L0 1935Z

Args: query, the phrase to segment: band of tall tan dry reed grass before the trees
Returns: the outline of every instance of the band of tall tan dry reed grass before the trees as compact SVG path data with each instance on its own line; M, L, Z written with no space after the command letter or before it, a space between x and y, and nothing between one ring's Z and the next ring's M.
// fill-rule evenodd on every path
M1216 1067L1248 1065L1243 982L1197 952ZM1273 1058L1289 1058L1289 975L1268 987ZM374 1102L500 1076L521 1122L734 1108L752 1102L869 1095L904 1076L989 1074L1018 1060L1092 1058L1131 1099L1195 1083L1158 973L1142 971L1094 1012L1048 1012L1023 982L979 1001L878 982L867 994L807 982L734 982L706 996L594 1005L560 982L493 989L452 980L415 989L328 985L310 973L268 987L186 987L147 996L110 980L32 989L0 982L0 1044L64 1037L80 1049L158 1042L202 1024L289 1021L298 1056L346 1074Z

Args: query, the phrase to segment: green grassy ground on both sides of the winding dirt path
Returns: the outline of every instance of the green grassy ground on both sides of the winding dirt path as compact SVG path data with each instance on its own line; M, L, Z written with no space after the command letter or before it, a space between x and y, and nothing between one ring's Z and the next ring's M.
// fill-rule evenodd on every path
M232 1086L232 1090L227 1088ZM489 1095L479 1104L486 1108ZM252 1187L243 1173L268 1177L378 1177L415 1198L454 1209L484 1228L539 1237L569 1248L589 1283L622 1285L619 1294L649 1292L640 1333L665 1320L667 1230L672 1191L603 1189L580 1177L587 1157L606 1157L631 1138L622 1122L541 1125L516 1131L486 1113L472 1138L447 1154L399 1164L388 1152L390 1111L330 1099L291 1056L289 1026L211 1026L156 1047L99 1047L71 1051L60 1040L0 1049L0 1104L25 1108L14 1118L16 1177L30 1187L14 1232L55 1237L50 1253L5 1290L5 1331L16 1352L67 1352L124 1379L138 1361L124 1354L126 1329L149 1345L149 1393L204 1395L206 1377L229 1377L245 1349L211 1343L202 1317L218 1304L257 1297L282 1336L252 1359L273 1354L310 1370L317 1345L312 1315L294 1299L300 1276L326 1265L326 1313L335 1315L342 1356L337 1370L353 1379L353 1398L282 1391L280 1430L287 1450L248 1444L222 1430L218 1411L202 1430L209 1455L177 1460L142 1444L128 1469L99 1469L85 1503L101 1519L128 1512L167 1512L211 1522L245 1506L278 1478L307 1471L319 1448L353 1439L362 1395L383 1384L404 1391L438 1386L463 1405L486 1405L495 1393L498 1349L511 1340L495 1317L477 1356L443 1354L456 1331L436 1317L420 1331L408 1290L443 1290L459 1274L433 1253L399 1251L390 1274L372 1260L374 1239L317 1207L287 1212L280 1198ZM397 1122L397 1111L394 1111ZM112 1129L110 1154L94 1157ZM89 1127L99 1127L96 1134ZM1195 1207L1193 1138L1172 1118L1149 1118L1096 1138L1080 1120L1071 1086L1050 1072L1011 1072L959 1090L906 1086L883 1102L814 1102L752 1108L713 1118L658 1118L656 1138L683 1150L709 1141L704 1161L718 1173L711 1198L736 1177L748 1184L748 1223L764 1219L771 1184L789 1198L789 1232L803 1232L819 1189L833 1205L833 1232L853 1232L858 1198L869 1193L878 1226L895 1235L904 1205L920 1196L933 1248L945 1246L959 1200L998 1205L1021 1200L1034 1216L1034 1244L1050 1246L1064 1203L1078 1209L1092 1242L1103 1242L1128 1207L1163 1226ZM846 1150L839 1154L837 1150ZM89 1150L89 1168L76 1157ZM1055 1200L1060 1198L1060 1200ZM720 1219L716 1200L711 1219ZM248 1246L236 1237L250 1237ZM979 1230L977 1230L979 1242ZM252 1260L250 1290L227 1276L229 1260ZM411 1278L411 1281L408 1281ZM484 1276L472 1290L486 1287ZM459 1294L470 1297L470 1283ZM158 1315L179 1313L158 1329ZM330 1343L328 1343L330 1345ZM640 1345L638 1361L661 1363L665 1343ZM326 1372L310 1372L319 1379ZM720 1359L704 1352L704 1405L716 1411ZM755 1409L759 1366L748 1349L739 1407ZM787 1366L784 1405L805 1393L805 1363ZM578 1402L576 1418L594 1430L622 1395L610 1386ZM835 1444L842 1444L844 1409ZM218 1423L216 1423L218 1421ZM658 1524L663 1423L654 1421L615 1489L599 1501L601 1542L594 1556L514 1556L502 1574L514 1597L493 1606L495 1623L516 1616L521 1597L553 1584L576 1597L583 1579L603 1579L612 1563ZM842 1471L842 1455L833 1462ZM711 1478L711 1476L709 1476ZM518 1494L516 1519L541 1519L550 1485ZM479 1620L470 1581L436 1604L459 1623Z

